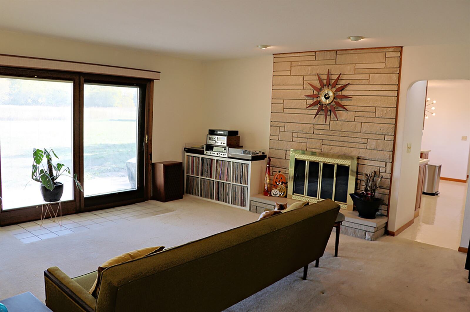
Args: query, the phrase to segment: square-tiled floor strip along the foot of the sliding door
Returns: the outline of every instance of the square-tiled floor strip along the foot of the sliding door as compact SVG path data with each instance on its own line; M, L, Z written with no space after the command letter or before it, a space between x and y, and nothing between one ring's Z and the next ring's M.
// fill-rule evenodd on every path
M102 226L118 225L134 219L146 218L153 215L161 215L173 210L158 206L157 201L145 201L133 205L122 206L83 212L75 215L62 216L62 226L55 223L55 219L45 219L8 225L0 227L0 230L18 238L23 243L31 243L41 239L53 238L61 235L99 229Z

